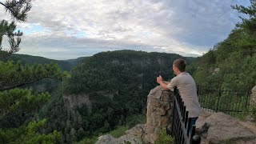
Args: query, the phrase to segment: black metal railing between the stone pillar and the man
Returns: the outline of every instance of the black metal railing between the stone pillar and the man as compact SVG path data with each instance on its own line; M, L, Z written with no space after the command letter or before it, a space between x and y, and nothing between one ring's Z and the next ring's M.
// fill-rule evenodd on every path
M188 118L189 112L186 111L186 106L182 102L182 98L178 93L177 88L174 88L173 100L173 120L170 130L170 135L174 137L176 144L197 144L200 143L201 138L195 133L195 125L191 130L191 140L189 139L191 119ZM195 136L195 137L194 137Z

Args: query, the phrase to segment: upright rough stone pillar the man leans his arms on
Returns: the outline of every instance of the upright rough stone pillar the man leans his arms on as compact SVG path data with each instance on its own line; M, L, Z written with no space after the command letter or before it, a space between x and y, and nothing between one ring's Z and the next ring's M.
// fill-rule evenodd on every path
M146 136L145 142L154 143L158 138L160 129L169 129L172 121L172 98L171 92L162 90L161 86L156 86L150 90L147 96L146 114Z

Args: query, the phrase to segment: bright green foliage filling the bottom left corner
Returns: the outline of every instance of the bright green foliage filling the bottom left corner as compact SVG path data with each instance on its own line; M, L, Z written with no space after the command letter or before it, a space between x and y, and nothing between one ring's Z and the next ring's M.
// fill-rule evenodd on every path
M28 126L1 130L0 143L60 143L61 134L54 130L50 134L42 134L40 131L46 123L46 119L38 122L30 122Z

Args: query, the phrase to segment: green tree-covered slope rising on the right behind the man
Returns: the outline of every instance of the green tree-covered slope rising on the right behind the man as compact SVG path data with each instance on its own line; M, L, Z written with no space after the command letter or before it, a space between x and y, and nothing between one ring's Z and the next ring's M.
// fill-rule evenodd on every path
M242 18L228 38L190 66L198 84L243 90L255 86L256 1L250 2L249 7L233 6L238 12L248 14L249 18Z

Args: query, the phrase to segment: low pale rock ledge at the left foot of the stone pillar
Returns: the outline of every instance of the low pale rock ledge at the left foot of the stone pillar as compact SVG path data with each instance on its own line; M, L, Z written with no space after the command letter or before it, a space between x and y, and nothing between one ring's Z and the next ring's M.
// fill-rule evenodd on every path
M137 125L134 128L127 130L126 135L120 138L114 138L110 134L103 135L98 138L96 144L120 144L130 142L131 144L142 143L143 135L145 134L145 125Z

